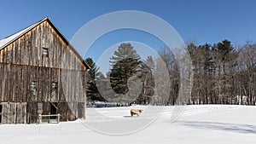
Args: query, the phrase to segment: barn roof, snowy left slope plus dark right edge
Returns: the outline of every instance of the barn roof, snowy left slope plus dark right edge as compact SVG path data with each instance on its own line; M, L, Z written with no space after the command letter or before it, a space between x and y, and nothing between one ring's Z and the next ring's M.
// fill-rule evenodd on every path
M4 39L0 40L0 50L5 48L6 46L8 46L10 43L13 43L16 39L18 39L19 37L23 36L24 34L26 34L26 32L31 31L33 28L35 28L36 26L38 26L39 24L41 24L42 22L44 22L44 20L47 20L49 22L49 24L55 29L55 32L57 32L61 38L64 40L64 42L66 42L67 44L69 44L71 46L71 49L73 50L73 52L79 56L79 58L83 61L84 66L86 66L87 68L90 68L90 66L81 58L81 56L79 55L79 53L73 49L73 46L67 41L67 38L64 37L64 35L60 32L60 30L53 24L53 22L51 20L49 20L48 17L44 18L43 20L38 21L35 24L32 24L32 26L28 26L25 29L21 30L20 32L16 32L13 35L10 35L9 37L5 37Z

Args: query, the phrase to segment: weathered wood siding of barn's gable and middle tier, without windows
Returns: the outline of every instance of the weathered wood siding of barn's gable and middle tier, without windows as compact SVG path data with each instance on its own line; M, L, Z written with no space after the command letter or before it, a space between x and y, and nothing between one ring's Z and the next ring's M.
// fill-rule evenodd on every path
M43 48L49 49L49 57L43 56ZM0 102L85 101L86 68L47 20L0 53ZM57 91L52 83L58 84Z

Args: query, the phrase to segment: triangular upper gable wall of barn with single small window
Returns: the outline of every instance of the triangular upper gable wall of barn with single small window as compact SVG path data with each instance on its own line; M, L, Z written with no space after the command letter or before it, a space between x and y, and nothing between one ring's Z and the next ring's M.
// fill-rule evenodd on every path
M44 48L49 49L49 57L43 56ZM86 70L79 55L67 46L47 20L2 49L0 63Z

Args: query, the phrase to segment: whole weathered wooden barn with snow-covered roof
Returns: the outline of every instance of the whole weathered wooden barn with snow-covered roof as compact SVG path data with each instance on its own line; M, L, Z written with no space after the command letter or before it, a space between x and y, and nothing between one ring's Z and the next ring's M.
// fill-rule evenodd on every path
M49 18L0 40L0 124L85 118L88 68Z

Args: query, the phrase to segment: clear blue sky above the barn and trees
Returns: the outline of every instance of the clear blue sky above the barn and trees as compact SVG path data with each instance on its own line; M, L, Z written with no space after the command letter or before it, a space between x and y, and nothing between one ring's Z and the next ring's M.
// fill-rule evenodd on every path
M0 39L48 16L70 40L81 26L102 14L139 10L166 20L185 42L218 43L224 38L233 44L256 42L254 0L6 0L0 4ZM127 37L119 37L124 33ZM122 41L142 41L154 49L163 47L156 38L133 37L137 35L152 37L143 32L112 32L108 40L99 39L86 56L96 60L104 49Z

